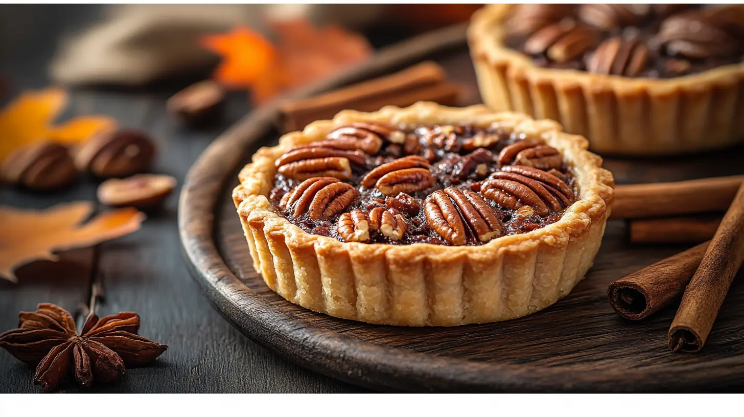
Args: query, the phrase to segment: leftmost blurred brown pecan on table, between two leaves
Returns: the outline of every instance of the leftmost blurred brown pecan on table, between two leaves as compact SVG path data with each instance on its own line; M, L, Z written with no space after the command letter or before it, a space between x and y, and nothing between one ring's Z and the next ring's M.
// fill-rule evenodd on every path
M0 167L4 182L37 190L60 188L77 177L67 147L51 141L37 141L15 150Z

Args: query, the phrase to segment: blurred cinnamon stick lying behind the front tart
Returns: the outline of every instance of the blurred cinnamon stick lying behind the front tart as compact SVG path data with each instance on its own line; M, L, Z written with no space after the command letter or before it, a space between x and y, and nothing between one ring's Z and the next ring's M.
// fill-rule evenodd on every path
M301 130L312 121L333 118L344 109L371 112L382 106L410 106L417 101L457 104L460 86L449 83L437 63L427 61L403 71L337 89L280 107L280 127L285 132Z

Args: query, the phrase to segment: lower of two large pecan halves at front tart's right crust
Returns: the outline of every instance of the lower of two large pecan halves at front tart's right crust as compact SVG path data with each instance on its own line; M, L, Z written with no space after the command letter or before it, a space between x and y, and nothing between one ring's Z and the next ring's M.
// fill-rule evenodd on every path
M513 210L530 206L540 216L547 216L551 210L561 211L573 203L573 193L557 176L522 165L509 165L491 174L481 185L481 194Z

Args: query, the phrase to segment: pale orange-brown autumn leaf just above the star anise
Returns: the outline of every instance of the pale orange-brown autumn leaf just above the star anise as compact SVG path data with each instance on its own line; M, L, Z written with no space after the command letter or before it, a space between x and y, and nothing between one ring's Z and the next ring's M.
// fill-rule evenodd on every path
M46 210L0 206L0 276L17 282L13 270L31 261L57 261L52 252L108 241L136 232L145 215L135 208L98 214L83 223L93 203L64 203Z

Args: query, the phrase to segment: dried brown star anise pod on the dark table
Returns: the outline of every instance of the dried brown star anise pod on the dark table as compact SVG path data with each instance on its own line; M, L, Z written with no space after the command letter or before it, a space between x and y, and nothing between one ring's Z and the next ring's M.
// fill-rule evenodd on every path
M45 391L57 389L70 375L86 387L117 381L125 366L148 363L168 348L138 336L137 313L102 319L90 314L80 334L71 314L54 304L22 311L18 319L19 328L0 334L0 348L29 365L38 363L33 383Z

